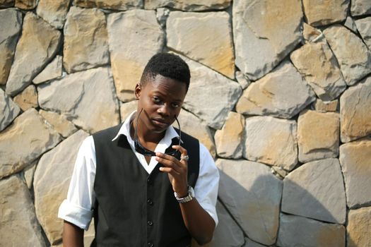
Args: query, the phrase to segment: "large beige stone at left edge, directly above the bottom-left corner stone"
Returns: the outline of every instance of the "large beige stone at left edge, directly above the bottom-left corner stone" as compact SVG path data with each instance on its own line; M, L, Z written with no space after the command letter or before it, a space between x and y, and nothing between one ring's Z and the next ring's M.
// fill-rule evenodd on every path
M28 109L0 133L0 178L20 171L60 140L35 109Z

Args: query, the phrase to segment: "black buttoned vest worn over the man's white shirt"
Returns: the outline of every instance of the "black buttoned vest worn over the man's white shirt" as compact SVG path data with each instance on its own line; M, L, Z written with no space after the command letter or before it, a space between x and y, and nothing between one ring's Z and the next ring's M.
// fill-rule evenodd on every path
M93 134L97 159L93 245L190 246L191 236L167 174L158 164L148 175L125 135L112 141L121 126ZM199 141L186 133L182 141L189 154L188 183L194 187L199 176Z

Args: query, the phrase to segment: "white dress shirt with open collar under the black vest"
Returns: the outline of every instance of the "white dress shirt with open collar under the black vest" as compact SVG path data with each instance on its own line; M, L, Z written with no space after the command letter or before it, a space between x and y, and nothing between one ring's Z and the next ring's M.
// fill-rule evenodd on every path
M130 119L135 112L126 118L117 135L112 139L115 140L119 135L126 135L131 150L135 153L139 162L144 169L151 174L158 162L155 157L151 157L149 164L146 162L144 155L135 151L134 140L130 136ZM170 147L172 138L179 137L177 131L170 126L165 132L165 136L155 148L155 152L165 152ZM216 215L216 198L218 196L219 173L210 153L204 145L200 143L200 164L199 177L194 187L195 198L201 207L208 212L213 220L218 224ZM75 224L81 229L88 230L90 221L93 217L93 206L95 202L94 180L95 180L95 145L93 136L88 136L81 144L69 185L69 192L58 212L58 217Z

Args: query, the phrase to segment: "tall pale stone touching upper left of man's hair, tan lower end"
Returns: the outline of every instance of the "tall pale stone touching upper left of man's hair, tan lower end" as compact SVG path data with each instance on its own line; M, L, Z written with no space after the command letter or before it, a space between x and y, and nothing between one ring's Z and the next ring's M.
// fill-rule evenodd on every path
M151 56L163 49L163 30L155 11L140 9L110 14L107 30L117 97L123 102L134 100L134 88L144 66Z

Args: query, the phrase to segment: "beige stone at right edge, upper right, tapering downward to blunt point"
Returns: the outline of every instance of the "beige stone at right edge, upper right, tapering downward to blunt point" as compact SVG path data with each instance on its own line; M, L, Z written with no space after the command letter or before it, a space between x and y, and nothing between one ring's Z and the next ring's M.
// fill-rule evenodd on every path
M324 30L324 36L334 52L348 85L354 85L371 73L371 52L351 30L333 25Z

